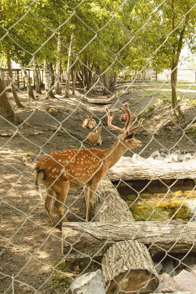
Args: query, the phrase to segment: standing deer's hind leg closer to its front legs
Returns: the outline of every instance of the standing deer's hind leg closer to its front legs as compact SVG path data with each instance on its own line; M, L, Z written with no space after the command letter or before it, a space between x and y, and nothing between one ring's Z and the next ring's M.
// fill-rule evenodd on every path
M70 183L66 182L64 185L58 187L55 191L56 200L54 202L54 211L59 215L61 221L68 221L68 219L64 216L63 206L70 188Z

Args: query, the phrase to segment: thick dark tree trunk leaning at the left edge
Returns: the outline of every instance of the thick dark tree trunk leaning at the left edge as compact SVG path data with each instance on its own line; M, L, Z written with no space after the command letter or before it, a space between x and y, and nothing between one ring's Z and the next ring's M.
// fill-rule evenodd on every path
M5 85L3 82L3 74L0 71L0 115L4 117L7 121L14 123L16 125L23 123L13 111L9 100L7 99L7 94L5 92Z

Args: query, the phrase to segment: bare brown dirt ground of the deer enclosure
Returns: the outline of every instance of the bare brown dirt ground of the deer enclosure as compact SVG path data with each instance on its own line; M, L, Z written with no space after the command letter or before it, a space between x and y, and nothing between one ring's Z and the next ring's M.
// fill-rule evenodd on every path
M179 124L175 122L171 103L155 102L163 95L170 96L168 88L157 90L153 84L127 88L122 83L114 97L83 96L83 90L77 89L75 97L68 99L57 96L60 100L46 100L44 94L35 94L36 100L30 101L27 92L22 91L19 98L25 108L18 109L8 92L14 111L25 123L15 127L0 119L0 294L13 293L13 289L15 294L67 293L62 285L61 290L54 289L58 265L64 262L61 227L51 226L44 200L35 192L34 167L38 159L54 150L79 148L81 144L91 147L85 142L90 130L82 128L86 115L93 114L97 123L102 123L102 146L98 148L110 147L118 136L117 131L107 127L105 106L116 111L113 123L123 127L118 121L119 108L128 102L131 111L138 109L139 117L144 118L135 135L143 146L127 151L125 156L139 153L147 158L155 150L196 152L196 107L182 103L186 122ZM186 95L195 99L196 90ZM82 190L68 193L66 207L69 221L85 219ZM70 272L74 277L79 270L74 266L74 272Z

